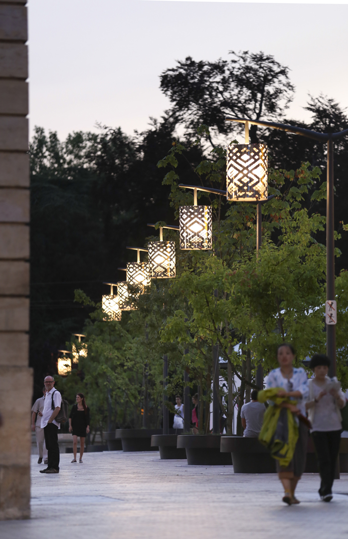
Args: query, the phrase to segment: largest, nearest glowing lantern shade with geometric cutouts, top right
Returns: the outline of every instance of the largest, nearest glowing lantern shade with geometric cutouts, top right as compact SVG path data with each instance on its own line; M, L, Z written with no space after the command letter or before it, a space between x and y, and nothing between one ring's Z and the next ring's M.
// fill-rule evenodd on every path
M267 200L266 144L229 144L227 148L227 200Z

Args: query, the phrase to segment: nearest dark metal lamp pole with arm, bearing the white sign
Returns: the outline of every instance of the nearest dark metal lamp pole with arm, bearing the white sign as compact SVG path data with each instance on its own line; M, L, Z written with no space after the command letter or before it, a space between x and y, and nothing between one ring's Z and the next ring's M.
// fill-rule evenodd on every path
M239 123L252 123L256 126L272 127L295 135L302 135L308 139L328 145L327 156L327 199L326 199L326 301L335 300L335 227L333 224L333 142L348 135L348 129L338 133L317 133L302 127L288 126L283 123L263 122L246 118L226 118L226 121ZM335 323L326 324L326 354L331 360L329 375L336 375L336 328Z

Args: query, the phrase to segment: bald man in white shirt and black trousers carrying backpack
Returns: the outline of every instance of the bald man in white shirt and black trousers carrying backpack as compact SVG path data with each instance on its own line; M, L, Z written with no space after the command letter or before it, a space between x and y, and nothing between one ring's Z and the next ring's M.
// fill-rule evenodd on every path
M58 430L60 429L60 424L54 419L60 410L61 395L59 391L54 389L53 376L46 376L44 383L47 393L45 396L43 417L41 417L41 429L44 429L48 464L47 468L40 470L40 473L59 473Z

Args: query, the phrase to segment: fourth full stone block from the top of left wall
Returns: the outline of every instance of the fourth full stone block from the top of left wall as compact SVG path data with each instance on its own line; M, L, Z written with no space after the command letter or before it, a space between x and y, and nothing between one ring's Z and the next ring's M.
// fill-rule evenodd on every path
M28 120L26 118L0 116L0 150L28 151Z

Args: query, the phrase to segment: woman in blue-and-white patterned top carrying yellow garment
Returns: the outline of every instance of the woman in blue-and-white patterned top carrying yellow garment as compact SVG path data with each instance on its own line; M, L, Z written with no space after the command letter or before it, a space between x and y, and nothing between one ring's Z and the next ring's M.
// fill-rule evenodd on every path
M279 397L289 397L296 400L297 404L283 404L294 414L305 415L305 402L308 398L308 376L304 369L293 367L295 350L291 344L283 343L278 347L277 360L279 369L274 369L268 375L268 388L282 388L278 392ZM283 502L291 505L300 503L295 497L295 489L301 475L304 472L307 456L308 429L303 424L298 425L298 440L295 447L294 457L289 466L280 466L276 461L279 479L284 487Z

